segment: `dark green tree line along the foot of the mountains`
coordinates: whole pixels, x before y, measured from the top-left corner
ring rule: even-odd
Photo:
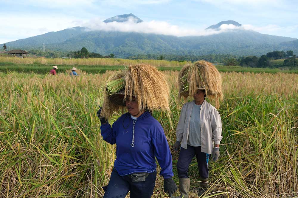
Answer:
[[[6,45],[3,45],[3,50],[7,49]],[[36,56],[45,56],[48,58],[58,58],[58,57],[72,57],[72,58],[115,58],[115,54],[110,53],[108,56],[103,56],[99,53],[89,52],[86,47],[82,47],[81,50],[71,51],[69,53],[60,52],[60,51],[46,51],[42,52],[40,50],[29,50],[30,54]],[[242,56],[237,57],[231,54],[208,54],[196,56],[192,55],[175,55],[175,54],[139,54],[135,56],[128,56],[127,59],[155,59],[155,60],[167,60],[167,61],[198,61],[205,60],[209,62],[217,62],[224,63],[224,65],[231,66],[245,66],[245,67],[258,67],[258,68],[273,68],[286,66],[292,67],[298,66],[298,61],[296,55],[292,50],[288,51],[272,51],[268,52],[266,55],[262,55],[261,57],[257,56]],[[283,64],[273,64],[271,60],[285,59]]]

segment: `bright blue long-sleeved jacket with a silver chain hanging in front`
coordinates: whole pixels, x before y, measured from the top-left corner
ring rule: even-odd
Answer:
[[[160,175],[165,179],[174,176],[172,155],[160,123],[145,111],[135,121],[134,147],[133,119],[130,113],[123,114],[111,127],[109,123],[100,126],[103,140],[116,143],[114,167],[119,175],[134,172],[153,172],[156,160],[161,167]]]

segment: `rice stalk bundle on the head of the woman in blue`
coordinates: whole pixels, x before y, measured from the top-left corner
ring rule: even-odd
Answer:
[[[113,112],[125,110],[126,99],[136,97],[139,110],[164,110],[170,113],[169,88],[164,75],[148,64],[130,65],[114,73],[105,86],[101,115],[111,118]]]

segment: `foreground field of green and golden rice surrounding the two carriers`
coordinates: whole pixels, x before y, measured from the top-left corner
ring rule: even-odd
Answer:
[[[103,196],[101,186],[108,183],[116,147],[100,136],[96,112],[112,73],[0,72],[0,197]],[[178,72],[164,74],[175,129],[186,101],[177,101]],[[298,75],[221,75],[221,156],[209,162],[210,188],[203,197],[298,197]],[[153,116],[172,148],[176,134],[167,115]],[[178,153],[172,155],[177,175]],[[189,173],[194,198],[199,182],[195,160]],[[158,176],[153,198],[166,197],[162,186]]]

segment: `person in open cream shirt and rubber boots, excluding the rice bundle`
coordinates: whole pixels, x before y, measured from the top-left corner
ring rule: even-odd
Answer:
[[[174,149],[178,151],[181,142],[177,171],[181,197],[184,195],[184,198],[188,197],[190,186],[188,167],[193,157],[197,158],[201,176],[199,195],[202,195],[208,186],[210,154],[212,153],[213,161],[217,161],[219,157],[219,145],[222,139],[221,116],[204,96],[205,90],[198,90],[193,96],[194,100],[183,105],[176,129]]]

